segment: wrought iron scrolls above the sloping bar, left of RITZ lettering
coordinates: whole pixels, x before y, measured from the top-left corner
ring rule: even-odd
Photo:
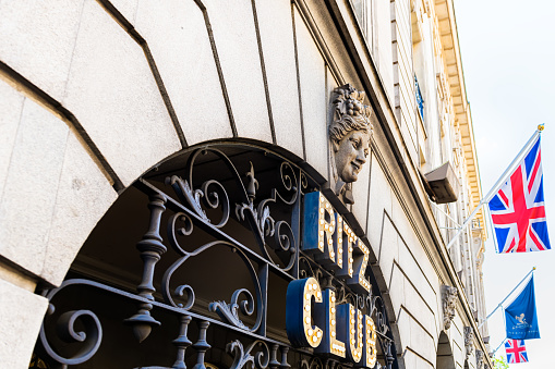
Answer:
[[[200,156],[215,155],[226,165],[232,176],[234,188],[232,193],[239,197],[236,204],[236,217],[239,221],[245,222],[253,231],[258,243],[261,255],[273,266],[282,271],[291,271],[294,265],[294,256],[298,250],[298,237],[287,220],[276,220],[272,216],[270,207],[274,204],[292,206],[300,199],[301,189],[307,188],[309,180],[306,175],[294,169],[287,161],[281,162],[279,167],[279,176],[281,187],[287,196],[283,196],[277,188],[270,189],[270,196],[262,199],[257,204],[255,199],[260,187],[258,180],[255,177],[254,165],[245,173],[245,180],[239,174],[232,161],[222,151],[216,148],[203,148],[191,153],[186,161],[185,172],[188,179],[178,175],[166,177],[166,184],[171,185],[179,202],[191,210],[201,221],[210,224],[216,229],[222,229],[228,224],[230,216],[230,198],[225,186],[216,181],[205,181],[201,188],[194,187],[194,168]],[[229,189],[231,190],[231,189]],[[210,219],[206,209],[221,209],[221,218]],[[192,230],[191,219],[186,214],[181,217],[188,226],[180,229],[181,235],[190,234]],[[176,222],[176,219],[172,220]],[[173,225],[171,225],[173,227]],[[176,237],[170,236],[170,243],[177,244]],[[274,260],[268,248],[276,251],[280,260]]]

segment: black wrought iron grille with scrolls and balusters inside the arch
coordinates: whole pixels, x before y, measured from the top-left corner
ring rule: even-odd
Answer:
[[[197,159],[204,155],[216,156],[218,163],[224,163],[227,168],[228,171],[225,174],[218,173],[218,180],[221,182],[216,179],[204,181],[205,179],[201,179],[201,175],[194,181],[193,174],[195,174],[195,165],[198,164]],[[208,162],[212,162],[212,159],[213,157],[208,157]],[[201,164],[206,162],[207,160],[204,160]],[[131,317],[125,315],[121,319],[125,324],[131,325],[140,342],[145,340],[155,327],[160,325],[160,321],[166,321],[168,316],[176,317],[179,323],[173,329],[179,332],[170,332],[172,335],[168,340],[177,352],[172,369],[186,368],[185,350],[188,350],[188,360],[193,360],[191,354],[196,354],[193,369],[205,369],[204,360],[206,357],[209,360],[212,354],[207,337],[213,336],[212,330],[215,329],[229,330],[241,337],[230,342],[226,347],[227,353],[233,358],[231,369],[245,367],[288,369],[290,367],[288,352],[293,348],[283,342],[273,341],[266,335],[268,318],[265,304],[268,304],[268,291],[272,291],[269,281],[275,275],[286,282],[299,276],[314,276],[323,288],[336,290],[338,304],[350,303],[373,317],[383,354],[379,359],[382,362],[385,360],[387,367],[391,368],[396,353],[382,298],[353,293],[343,280],[336,279],[333,271],[326,270],[310,255],[300,250],[302,195],[309,188],[312,190],[317,187],[317,184],[301,169],[287,161],[276,161],[273,172],[266,169],[261,171],[261,175],[255,172],[255,165],[251,163],[249,172],[240,175],[230,157],[216,148],[206,147],[189,155],[184,177],[174,175],[174,172],[170,175],[153,177],[154,181],[166,179],[165,184],[162,181],[155,183],[140,179],[135,187],[148,196],[149,222],[147,231],[136,244],[142,260],[142,274],[138,278],[136,293],[92,280],[75,279],[68,280],[60,287],[51,290],[46,297],[51,300],[60,291],[79,284],[126,298],[135,305],[136,312]],[[209,171],[204,170],[202,175],[207,173]],[[231,179],[228,174],[231,174]],[[274,181],[268,180],[270,177]],[[268,182],[272,186],[263,187]],[[168,188],[171,188],[174,194],[167,194]],[[232,218],[232,208],[236,209],[237,219]],[[254,237],[248,237],[241,234],[240,237],[244,237],[246,244],[238,241],[243,238],[232,237],[233,232],[239,233],[239,231],[233,229],[233,232],[229,232],[230,227],[226,227],[226,225],[236,226],[237,222],[242,224],[239,227],[240,232],[246,234],[244,232],[246,230],[254,235]],[[166,231],[166,234],[160,235],[160,230]],[[167,253],[167,246],[170,247],[169,253]],[[239,266],[243,272],[241,283],[243,279],[250,280],[249,288],[238,288],[233,285],[236,281],[232,281],[222,287],[224,297],[218,295],[205,298],[202,292],[196,291],[200,295],[195,293],[193,286],[197,288],[198,285],[195,284],[196,281],[191,280],[194,278],[194,268],[190,271],[186,267],[198,260],[196,257],[203,253],[209,253],[215,248],[231,250],[239,257],[241,260]],[[162,257],[171,259],[158,263]],[[137,259],[138,262],[141,261]],[[155,273],[155,269],[160,266],[167,269]],[[196,300],[198,304],[195,303]],[[215,313],[204,315],[206,312],[204,302],[208,304],[208,311]],[[88,309],[55,313],[52,304],[51,302],[45,321],[47,319],[57,319],[57,321],[53,324],[48,321],[48,324],[41,328],[39,335],[41,353],[50,361],[62,366],[89,360],[97,353],[102,341],[100,319]],[[160,321],[155,319],[157,315]],[[126,317],[129,318],[124,319]],[[77,321],[79,324],[76,324]],[[191,323],[193,323],[193,332],[198,332],[196,341],[188,337]],[[52,325],[56,327],[55,330],[51,330]],[[76,327],[82,327],[81,331]],[[110,327],[106,324],[106,330],[108,331]],[[209,329],[210,334],[208,334]],[[47,336],[51,339],[48,334],[52,334],[52,331],[57,337],[48,340]],[[167,329],[164,333],[167,333]],[[52,347],[60,340],[71,342],[81,348],[75,350],[76,354],[63,357],[60,352],[64,353],[64,350],[56,350]],[[243,346],[242,341],[250,344]],[[323,359],[314,356],[305,359],[307,355],[306,350],[295,352],[295,357],[303,357],[300,362],[303,369],[348,367],[331,358]]]

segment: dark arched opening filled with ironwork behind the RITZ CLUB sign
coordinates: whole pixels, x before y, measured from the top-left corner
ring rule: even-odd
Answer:
[[[372,317],[377,366],[397,368],[370,268],[372,287],[361,293],[301,245],[303,198],[315,190],[305,171],[252,145],[164,161],[120,195],[62,285],[44,292],[39,356],[77,368],[343,366],[288,340],[288,285],[314,278],[338,305]]]

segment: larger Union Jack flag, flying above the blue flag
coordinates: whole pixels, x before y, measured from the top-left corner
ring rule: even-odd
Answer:
[[[551,249],[543,201],[540,136],[490,200],[497,253]]]

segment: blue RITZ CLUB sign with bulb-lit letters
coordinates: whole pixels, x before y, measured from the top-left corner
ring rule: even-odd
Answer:
[[[305,195],[302,249],[357,293],[370,293],[364,278],[367,247],[354,235],[319,192]],[[314,278],[293,281],[287,288],[286,329],[295,347],[374,368],[376,327],[351,304],[336,305],[335,291],[322,291]]]

